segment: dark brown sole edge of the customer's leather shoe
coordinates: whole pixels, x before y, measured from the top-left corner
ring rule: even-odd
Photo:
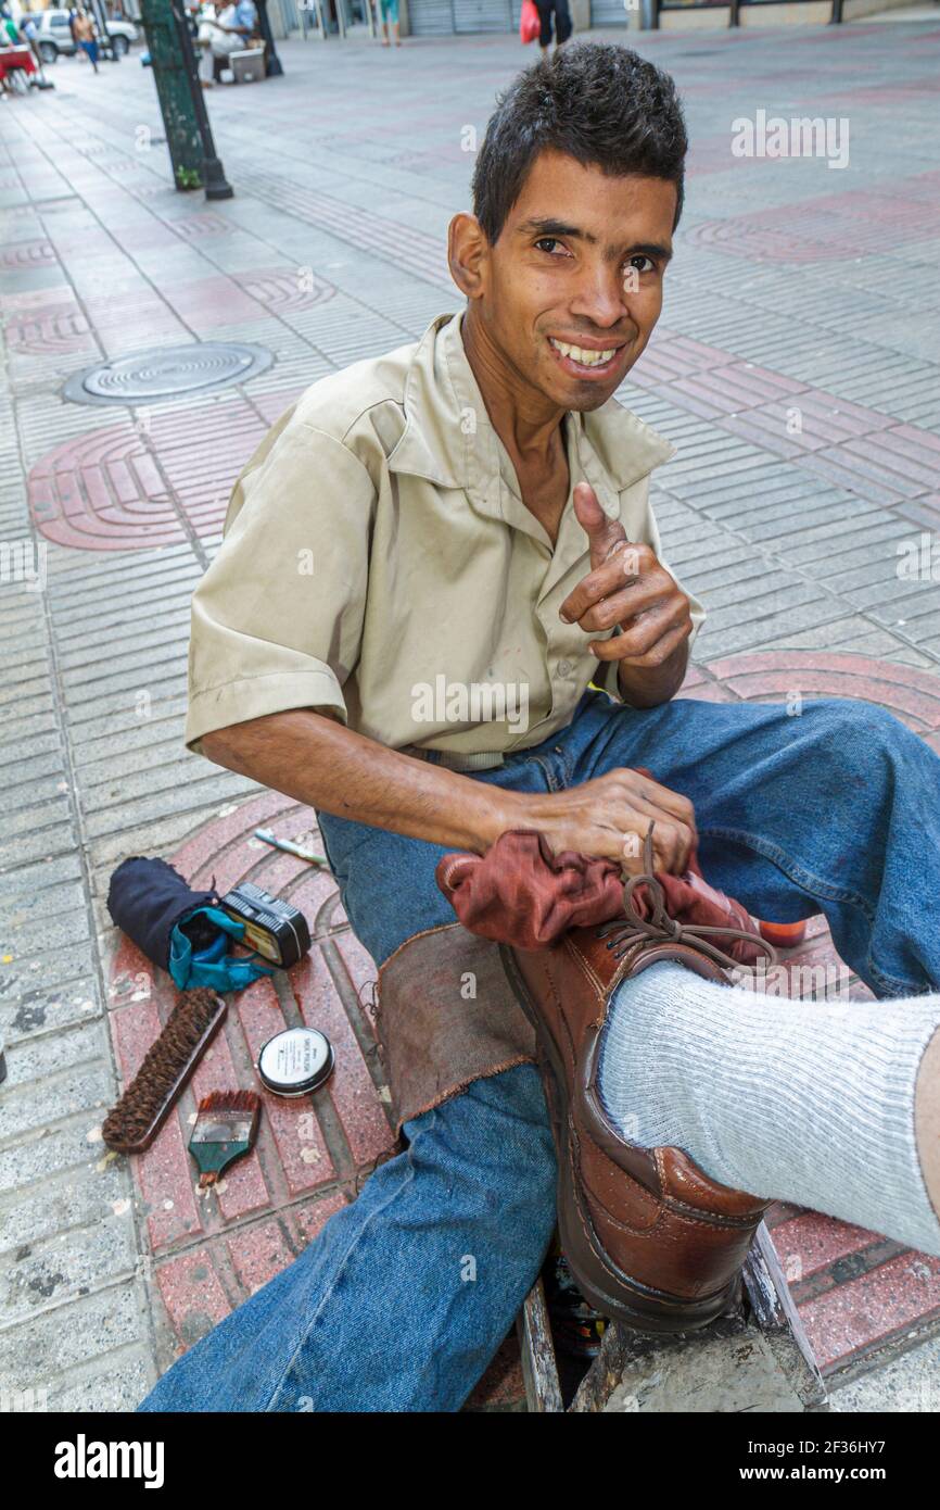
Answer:
[[[561,1057],[552,1034],[540,1021],[511,948],[501,944],[499,954],[513,995],[536,1031],[539,1062],[548,1081],[546,1101],[558,1151],[558,1237],[579,1290],[602,1315],[640,1332],[696,1332],[709,1326],[735,1300],[739,1274],[715,1294],[685,1300],[631,1279],[604,1252],[575,1188],[569,1096]],[[611,1279],[622,1294],[610,1293],[607,1285]]]

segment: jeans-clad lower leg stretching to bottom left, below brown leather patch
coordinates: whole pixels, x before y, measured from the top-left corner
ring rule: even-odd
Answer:
[[[555,1222],[539,1075],[475,1081],[404,1128],[288,1268],[163,1376],[142,1410],[457,1410]]]

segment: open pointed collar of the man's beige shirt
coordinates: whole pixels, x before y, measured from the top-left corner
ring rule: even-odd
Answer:
[[[463,349],[459,314],[439,314],[418,341],[404,415],[389,468],[463,488],[477,509],[502,518],[498,436]],[[620,492],[676,455],[671,441],[616,399],[570,412],[569,426],[584,476],[610,518],[619,516]]]

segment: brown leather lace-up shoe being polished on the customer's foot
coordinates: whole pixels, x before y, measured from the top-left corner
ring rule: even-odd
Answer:
[[[652,870],[649,844],[647,856]],[[637,885],[650,888],[649,921],[631,904]],[[601,1033],[614,989],[659,960],[730,988],[735,960],[717,945],[751,935],[721,935],[674,923],[658,882],[646,874],[626,883],[623,920],[570,929],[548,948],[501,945],[539,1040],[558,1154],[561,1247],[591,1305],[643,1332],[694,1330],[721,1315],[771,1205],[715,1184],[680,1148],[629,1143],[597,1092]],[[776,959],[770,944],[760,947]]]

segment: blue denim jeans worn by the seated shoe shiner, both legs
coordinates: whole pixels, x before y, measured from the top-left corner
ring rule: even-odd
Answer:
[[[940,760],[865,702],[674,701],[587,692],[572,723],[474,779],[558,791],[646,766],[696,808],[702,868],[756,917],[824,912],[880,997],[940,989]],[[444,849],[321,815],[350,923],[382,963],[453,921]],[[457,1410],[508,1332],[554,1226],[555,1166],[531,1065],[404,1126],[288,1268],[163,1376],[142,1410]]]

